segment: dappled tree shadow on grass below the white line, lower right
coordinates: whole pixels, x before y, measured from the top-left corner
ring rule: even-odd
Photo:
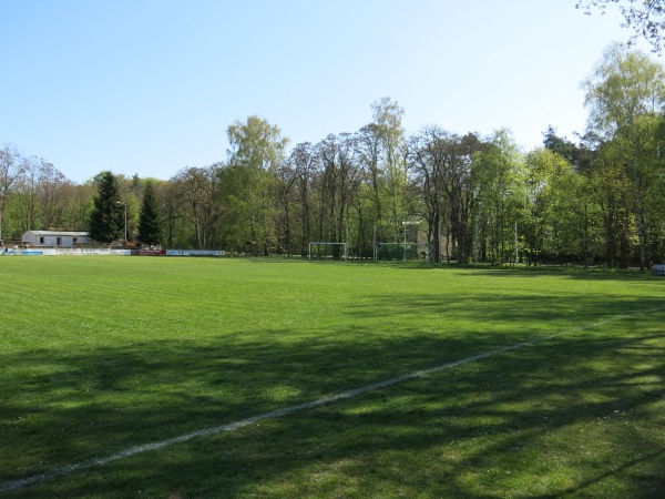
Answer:
[[[663,332],[551,340],[21,496],[658,497],[664,350]]]

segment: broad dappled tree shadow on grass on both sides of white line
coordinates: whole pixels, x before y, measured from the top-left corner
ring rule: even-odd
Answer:
[[[428,299],[403,298],[383,313],[413,305],[438,313]],[[546,308],[559,317],[593,305],[580,299],[559,298]],[[636,306],[626,301],[615,312]],[[480,312],[488,320],[523,319],[514,309]],[[610,332],[564,335],[7,496],[659,497],[662,319],[617,320]],[[0,355],[8,375],[31,373],[12,376],[0,398],[0,481],[440,366],[508,339],[358,327],[285,342],[291,333],[137,342],[58,357],[38,348]]]

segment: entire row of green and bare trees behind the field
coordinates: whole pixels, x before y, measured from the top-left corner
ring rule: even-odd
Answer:
[[[289,256],[345,242],[371,258],[377,242],[405,242],[408,227],[413,241],[416,225],[436,262],[646,268],[665,255],[665,73],[614,44],[582,89],[589,122],[577,143],[550,126],[529,152],[508,130],[408,135],[389,98],[359,131],[290,150],[266,120],[236,121],[226,161],[167,181],[101,172],[76,185],[6,145],[0,237],[59,227],[101,242]]]

